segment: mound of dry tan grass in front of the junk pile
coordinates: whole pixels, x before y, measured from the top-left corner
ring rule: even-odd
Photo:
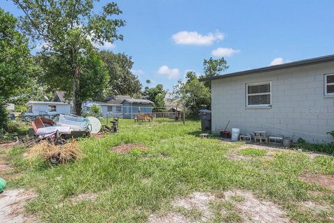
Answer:
[[[77,145],[77,141],[72,141],[63,146],[49,144],[42,141],[29,150],[29,157],[42,157],[53,163],[66,163],[77,160],[82,156],[81,149]]]

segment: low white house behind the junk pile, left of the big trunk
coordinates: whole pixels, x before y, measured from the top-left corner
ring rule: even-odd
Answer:
[[[65,102],[27,102],[28,111],[24,116],[39,116],[39,115],[55,115],[55,114],[70,114],[71,105]]]

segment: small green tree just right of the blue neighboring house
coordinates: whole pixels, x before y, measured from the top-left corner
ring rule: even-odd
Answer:
[[[153,112],[165,112],[165,97],[167,91],[164,90],[164,86],[162,84],[157,84],[155,87],[145,87],[145,91],[143,95],[146,99],[154,102],[153,104]]]

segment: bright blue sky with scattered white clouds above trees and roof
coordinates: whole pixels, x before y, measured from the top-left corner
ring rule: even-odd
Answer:
[[[334,54],[331,0],[116,2],[127,21],[124,40],[103,48],[132,56],[144,86],[150,79],[173,90],[186,70],[201,74],[210,56],[224,56],[234,72]],[[20,14],[10,1],[0,7]]]

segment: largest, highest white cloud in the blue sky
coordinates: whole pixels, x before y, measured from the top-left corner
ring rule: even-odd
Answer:
[[[214,41],[223,40],[224,34],[216,31],[216,33],[207,33],[202,35],[196,31],[180,31],[172,36],[176,44],[184,45],[211,45]]]

